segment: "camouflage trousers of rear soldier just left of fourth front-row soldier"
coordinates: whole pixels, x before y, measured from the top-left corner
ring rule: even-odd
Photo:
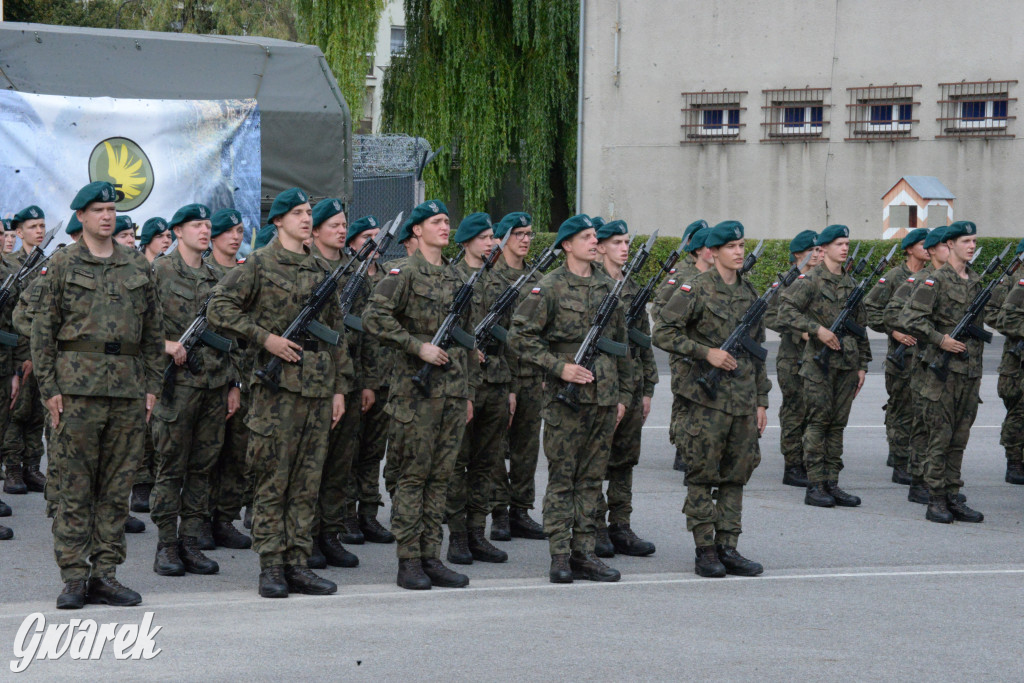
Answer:
[[[512,425],[506,432],[505,458],[495,465],[495,493],[492,509],[532,510],[537,500],[537,460],[541,454],[541,407],[544,376],[520,377],[516,381],[516,407]]]

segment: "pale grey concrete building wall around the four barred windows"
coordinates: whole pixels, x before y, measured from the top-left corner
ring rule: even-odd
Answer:
[[[879,238],[882,196],[903,175],[933,175],[956,196],[954,218],[1024,232],[1022,86],[1009,90],[1016,137],[936,138],[939,83],[1017,79],[1022,25],[1019,0],[587,0],[581,208],[662,234],[732,218],[753,237],[840,222]],[[844,141],[847,88],[872,84],[922,86],[919,139]],[[761,142],[762,91],[804,87],[830,88],[828,141]],[[700,90],[746,91],[744,142],[680,143],[681,93]]]

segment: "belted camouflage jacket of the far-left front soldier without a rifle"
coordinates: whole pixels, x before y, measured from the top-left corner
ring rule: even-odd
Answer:
[[[32,289],[32,360],[43,400],[57,394],[142,398],[159,394],[164,323],[156,279],[138,252],[114,244],[97,258],[85,240],[54,254]],[[61,349],[62,342],[120,344],[120,353]],[[134,347],[135,352],[129,351]],[[112,346],[112,348],[114,348]]]

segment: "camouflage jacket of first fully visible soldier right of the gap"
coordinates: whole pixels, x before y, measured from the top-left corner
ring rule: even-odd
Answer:
[[[824,348],[824,344],[818,341],[818,327],[828,329],[831,326],[855,287],[850,275],[834,274],[824,263],[819,263],[779,294],[778,325],[790,330],[791,334],[806,332],[810,338],[804,344],[801,377],[816,382],[825,381],[824,373],[813,360],[814,355]],[[867,325],[863,302],[857,306],[854,317],[861,327]],[[842,352],[831,354],[828,367],[830,370],[866,371],[870,360],[871,347],[867,340],[847,334]]]

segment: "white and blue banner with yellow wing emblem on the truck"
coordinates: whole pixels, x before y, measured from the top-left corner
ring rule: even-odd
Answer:
[[[114,99],[0,90],[0,216],[35,204],[47,226],[71,217],[93,180],[114,183],[138,225],[185,204],[237,209],[243,250],[259,229],[255,99]],[[67,240],[62,240],[67,241]],[[244,255],[244,254],[243,254]]]

